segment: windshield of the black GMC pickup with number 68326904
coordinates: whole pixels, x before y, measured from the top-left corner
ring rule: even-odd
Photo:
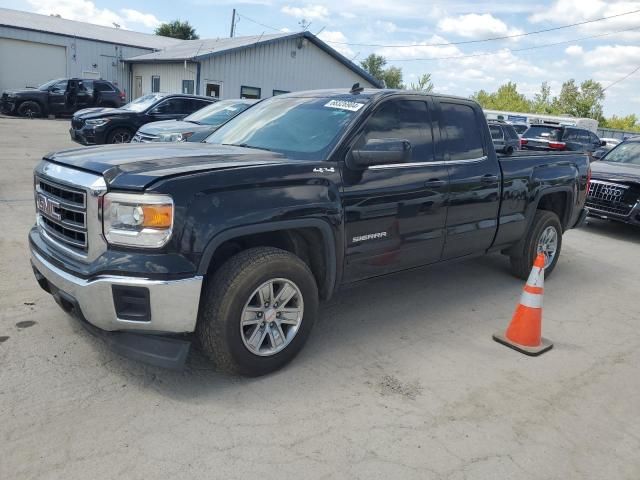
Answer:
[[[323,160],[366,101],[352,96],[272,97],[230,120],[206,141]]]

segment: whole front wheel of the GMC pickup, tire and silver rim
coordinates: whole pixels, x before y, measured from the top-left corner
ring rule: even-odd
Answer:
[[[264,375],[296,356],[317,309],[315,278],[300,258],[277,248],[251,248],[205,282],[196,333],[218,369]]]

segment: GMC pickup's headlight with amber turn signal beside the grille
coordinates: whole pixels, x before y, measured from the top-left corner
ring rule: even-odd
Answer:
[[[114,245],[160,248],[173,231],[173,199],[168,195],[107,193],[103,230]]]

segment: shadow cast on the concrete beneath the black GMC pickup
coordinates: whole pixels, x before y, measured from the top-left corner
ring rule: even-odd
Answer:
[[[549,284],[569,282],[582,274],[582,288],[589,291],[588,284],[597,283],[597,275],[584,275],[585,266],[578,263],[562,262]],[[523,286],[509,274],[508,264],[506,257],[491,255],[347,288],[323,304],[314,331],[298,357],[266,377],[221,374],[197,348],[192,349],[186,368],[173,372],[130,361],[99,347],[104,361],[101,368],[130,385],[186,402],[212,399],[248,386],[261,388],[268,395],[272,390],[262,388],[266,383],[291,388],[297,382],[308,383],[310,376],[318,374],[357,376],[367,363],[393,355],[403,345],[421,342],[428,353],[442,340],[446,343],[454,337],[477,336],[478,329],[490,339],[496,328],[507,325]],[[592,261],[590,268],[597,272],[600,262]]]

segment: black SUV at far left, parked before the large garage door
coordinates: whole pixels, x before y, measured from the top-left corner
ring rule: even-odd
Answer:
[[[3,92],[0,110],[21,117],[70,115],[87,107],[120,107],[124,99],[124,92],[106,80],[58,78],[38,88]]]

